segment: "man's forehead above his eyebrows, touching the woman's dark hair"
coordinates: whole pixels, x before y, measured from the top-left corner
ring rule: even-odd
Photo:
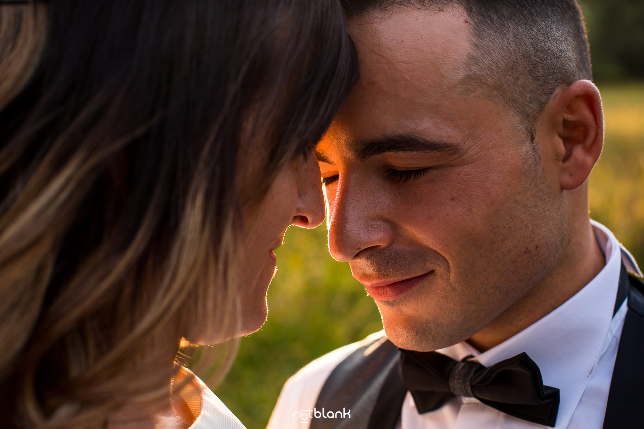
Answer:
[[[420,135],[458,141],[471,117],[457,86],[471,50],[460,10],[403,7],[349,22],[361,77],[328,134],[350,143],[379,136]]]

